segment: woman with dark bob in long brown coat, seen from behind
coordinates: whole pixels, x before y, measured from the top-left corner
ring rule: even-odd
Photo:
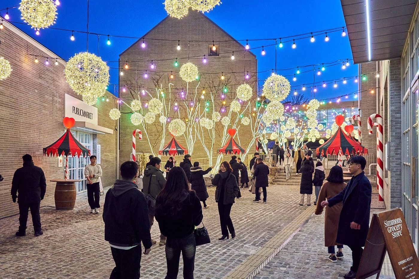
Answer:
[[[346,183],[343,182],[343,170],[340,166],[332,167],[326,180],[327,182],[323,184],[318,195],[316,215],[320,215],[323,212],[323,207],[321,206],[323,200],[331,199],[346,187]],[[341,210],[342,202],[333,207],[326,207],[324,216],[324,246],[328,247],[328,253],[330,253],[329,260],[332,262],[336,262],[336,258],[342,259],[344,257],[342,253],[343,245],[336,243]],[[336,254],[335,245],[338,246],[338,253]]]

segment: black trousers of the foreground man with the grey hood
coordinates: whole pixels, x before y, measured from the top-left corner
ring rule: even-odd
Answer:
[[[141,245],[128,250],[111,247],[115,267],[110,279],[138,279],[140,278]]]

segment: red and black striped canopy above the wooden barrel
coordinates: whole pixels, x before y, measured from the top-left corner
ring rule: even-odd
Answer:
[[[56,142],[44,148],[44,156],[90,156],[89,149],[85,148],[78,140],[75,139],[70,129],[61,136]]]

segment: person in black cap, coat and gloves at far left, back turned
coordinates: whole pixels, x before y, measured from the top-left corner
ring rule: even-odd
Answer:
[[[19,204],[19,230],[16,232],[16,236],[26,235],[29,208],[34,225],[34,235],[38,236],[43,234],[39,205],[41,200],[44,200],[47,182],[45,181],[44,171],[39,166],[34,165],[31,155],[25,154],[22,159],[23,167],[15,171],[10,191],[13,202],[16,202],[16,198],[18,198]],[[17,193],[19,196],[16,195]]]

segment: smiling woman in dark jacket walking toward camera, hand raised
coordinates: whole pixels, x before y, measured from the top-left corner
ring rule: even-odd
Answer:
[[[231,238],[235,238],[235,231],[233,222],[230,218],[231,207],[233,206],[234,199],[238,195],[238,184],[234,174],[232,173],[228,161],[221,163],[220,171],[215,174],[211,180],[211,184],[217,186],[215,189],[215,201],[218,203],[218,214],[220,215],[221,238],[228,239],[228,231],[231,233]]]

